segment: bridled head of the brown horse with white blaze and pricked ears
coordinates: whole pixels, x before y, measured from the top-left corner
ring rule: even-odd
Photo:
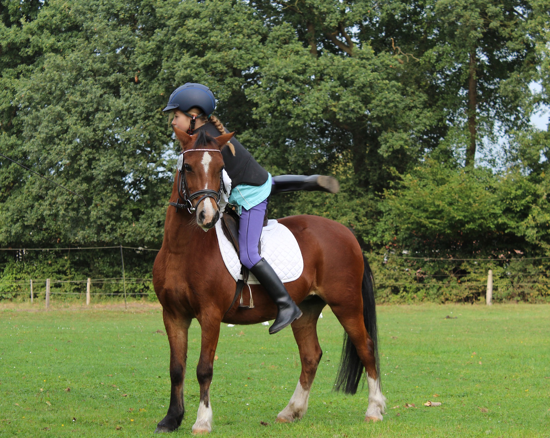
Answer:
[[[178,192],[190,212],[195,211],[197,224],[203,229],[212,228],[219,219],[223,157],[221,150],[234,132],[211,137],[204,131],[194,136],[174,127],[182,145],[178,161]]]

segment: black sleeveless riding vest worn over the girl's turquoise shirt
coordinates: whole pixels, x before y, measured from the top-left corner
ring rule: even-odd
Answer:
[[[219,137],[222,134],[210,122],[205,123],[197,131],[205,131],[212,137]],[[227,131],[226,129],[226,132]],[[252,154],[239,143],[235,137],[230,140],[235,147],[235,155],[231,153],[228,147],[222,149],[223,162],[226,165],[226,172],[231,179],[231,186],[236,187],[239,184],[250,184],[251,186],[261,186],[267,181],[267,170],[258,164]]]

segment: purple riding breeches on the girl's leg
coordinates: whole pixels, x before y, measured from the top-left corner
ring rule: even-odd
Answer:
[[[239,259],[247,268],[261,260],[258,253],[258,242],[262,234],[263,217],[266,214],[267,199],[257,206],[241,210],[239,219]]]

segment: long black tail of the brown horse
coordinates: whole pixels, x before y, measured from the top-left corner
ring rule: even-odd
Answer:
[[[374,344],[373,354],[376,360],[376,372],[380,378],[380,359],[378,357],[378,334],[376,327],[376,302],[375,288],[372,279],[372,271],[368,266],[367,259],[363,256],[365,270],[363,272],[363,282],[361,284],[361,295],[363,298],[363,321],[368,335],[371,337]],[[342,345],[342,358],[340,360],[340,369],[336,377],[335,391],[343,390],[346,394],[355,394],[361,374],[363,372],[363,364],[355,345],[349,339],[348,333],[344,332],[344,344]]]

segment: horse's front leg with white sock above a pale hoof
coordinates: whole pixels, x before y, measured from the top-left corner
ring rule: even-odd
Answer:
[[[219,338],[218,320],[202,320],[201,323],[201,355],[197,365],[197,380],[200,386],[200,402],[197,420],[193,425],[194,434],[212,431],[212,405],[210,404],[210,383],[214,370],[214,356]]]

